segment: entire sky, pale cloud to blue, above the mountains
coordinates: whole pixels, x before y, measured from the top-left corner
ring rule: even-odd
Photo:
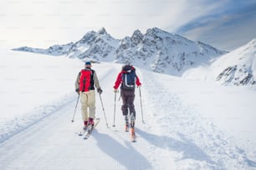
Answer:
[[[105,27],[113,37],[161,28],[233,50],[256,37],[255,0],[2,0],[1,47],[49,47]]]

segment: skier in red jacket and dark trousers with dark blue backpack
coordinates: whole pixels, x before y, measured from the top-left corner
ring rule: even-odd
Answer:
[[[121,84],[121,86],[120,86]],[[121,107],[122,113],[125,117],[125,131],[128,132],[129,129],[129,118],[128,118],[128,108],[130,111],[131,120],[131,133],[135,135],[134,126],[136,120],[136,110],[134,107],[135,99],[135,88],[141,87],[140,78],[136,75],[136,68],[131,65],[125,65],[122,67],[121,72],[119,72],[114,86],[114,92],[117,92],[120,86],[120,96],[122,97],[123,105]]]

